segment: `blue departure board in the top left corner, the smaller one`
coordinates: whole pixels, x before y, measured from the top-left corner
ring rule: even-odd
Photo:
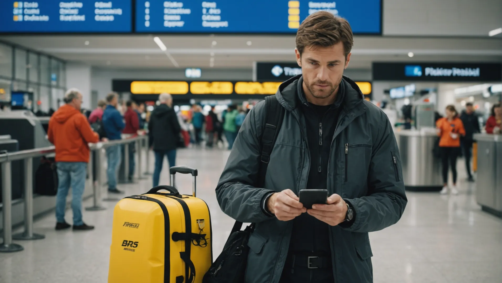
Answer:
[[[0,1],[0,33],[130,33],[132,0]]]

